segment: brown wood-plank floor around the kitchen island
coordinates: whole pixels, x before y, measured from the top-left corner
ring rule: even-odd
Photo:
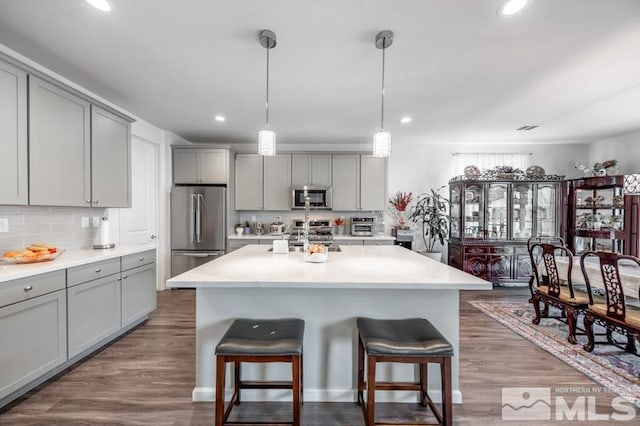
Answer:
[[[464,404],[454,405],[456,425],[519,424],[501,421],[503,387],[599,388],[467,303],[479,298],[514,297],[527,298],[528,290],[461,293],[460,387]],[[0,425],[213,424],[213,403],[191,402],[194,311],[194,291],[158,293],[158,309],[145,324],[0,409]],[[579,389],[563,393],[571,403],[579,395]],[[611,413],[613,397],[598,395],[596,412]],[[398,414],[411,418],[418,412],[413,404],[380,404],[379,411],[380,416],[395,420]],[[265,420],[289,413],[289,404],[244,403],[232,416]],[[310,426],[363,425],[360,408],[351,403],[305,403],[302,420]]]

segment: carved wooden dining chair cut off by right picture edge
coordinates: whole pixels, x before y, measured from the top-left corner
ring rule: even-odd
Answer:
[[[596,257],[599,261],[599,271],[604,284],[605,300],[594,300],[591,291],[591,281],[594,278],[585,267],[585,260]],[[633,256],[609,252],[585,252],[580,257],[580,268],[584,275],[589,296],[589,306],[584,315],[584,328],[589,341],[583,346],[587,352],[593,351],[595,344],[612,344],[627,352],[637,355],[635,340],[640,340],[640,308],[629,306],[625,300],[624,287],[620,278],[620,262],[631,263],[640,267],[640,259]],[[640,300],[640,289],[636,295]],[[607,329],[607,341],[596,342],[593,333],[593,324],[601,325]],[[626,346],[618,344],[612,339],[611,332],[616,331],[627,336]]]

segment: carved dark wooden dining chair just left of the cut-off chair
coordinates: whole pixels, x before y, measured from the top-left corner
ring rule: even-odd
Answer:
[[[537,250],[539,250],[540,263],[544,267],[545,273],[541,274],[539,265],[536,265],[534,273],[535,281],[538,285],[531,298],[531,303],[536,312],[533,323],[540,324],[541,318],[558,319],[569,327],[567,341],[571,344],[576,344],[577,318],[587,308],[589,299],[586,296],[577,295],[573,289],[571,282],[573,255],[567,247],[555,244],[535,243],[531,246],[531,251],[532,253],[537,253]],[[566,277],[560,277],[556,264],[556,255],[567,257]],[[545,309],[546,312],[541,311],[541,302],[545,303],[545,307],[553,306],[560,309],[560,315],[551,316],[547,309]]]

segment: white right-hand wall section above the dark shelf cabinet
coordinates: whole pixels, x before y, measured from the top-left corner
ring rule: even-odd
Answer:
[[[620,174],[640,173],[640,130],[592,143],[585,165],[612,159],[618,160]]]

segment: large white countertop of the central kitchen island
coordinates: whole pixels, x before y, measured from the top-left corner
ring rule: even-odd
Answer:
[[[491,290],[490,282],[400,246],[341,246],[325,263],[247,245],[167,281],[167,287]]]

